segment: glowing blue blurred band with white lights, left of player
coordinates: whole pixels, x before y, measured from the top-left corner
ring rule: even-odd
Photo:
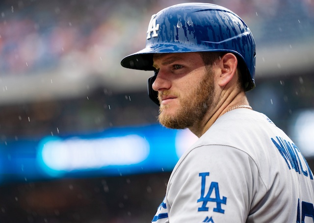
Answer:
[[[0,148],[0,182],[171,171],[197,137],[159,124],[48,136]]]

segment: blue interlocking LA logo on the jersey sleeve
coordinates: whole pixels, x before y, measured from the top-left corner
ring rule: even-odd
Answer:
[[[211,182],[209,186],[209,191],[205,196],[205,185],[206,185],[206,176],[209,176],[209,172],[207,173],[199,173],[199,176],[202,177],[201,181],[201,197],[197,200],[197,202],[203,202],[202,206],[198,208],[198,211],[208,211],[209,208],[207,207],[208,202],[215,202],[216,207],[213,208],[214,212],[219,212],[224,214],[225,210],[221,208],[221,204],[226,204],[227,198],[222,197],[220,198],[219,194],[219,186],[217,182]],[[214,197],[210,197],[211,194],[214,192]]]

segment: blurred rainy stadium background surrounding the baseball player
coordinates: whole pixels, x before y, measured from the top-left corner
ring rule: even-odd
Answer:
[[[157,124],[150,72],[120,66],[186,0],[1,0],[0,222],[146,223],[195,141]],[[252,107],[314,169],[314,0],[211,0],[257,43]]]

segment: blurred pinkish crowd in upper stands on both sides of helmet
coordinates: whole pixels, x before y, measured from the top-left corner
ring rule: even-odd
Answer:
[[[1,1],[0,76],[45,74],[69,61],[87,67],[90,73],[115,71],[123,56],[145,45],[150,16],[179,2],[187,1]],[[314,32],[311,0],[209,2],[240,15],[258,43],[291,41],[295,35]],[[134,38],[137,41],[131,41]]]

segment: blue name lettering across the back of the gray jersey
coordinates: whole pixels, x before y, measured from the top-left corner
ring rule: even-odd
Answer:
[[[295,172],[299,174],[301,174],[302,172],[303,175],[310,176],[310,178],[313,180],[313,174],[309,167],[309,164],[304,158],[304,156],[301,154],[299,148],[297,148],[297,146],[295,146],[292,142],[289,142],[281,137],[276,136],[276,139],[277,141],[271,138],[271,141],[274,143],[282,157],[285,159],[289,170],[291,170],[292,168],[295,170]],[[300,157],[307,166],[307,170],[304,170]]]

